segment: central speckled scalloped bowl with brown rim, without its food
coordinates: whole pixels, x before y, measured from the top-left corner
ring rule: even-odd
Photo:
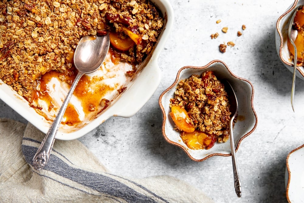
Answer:
[[[233,87],[238,101],[238,119],[233,128],[233,138],[236,150],[240,142],[250,135],[257,126],[257,115],[253,108],[254,89],[247,80],[234,75],[228,66],[222,61],[215,60],[202,67],[185,66],[181,68],[174,83],[166,89],[159,97],[159,105],[163,114],[162,133],[165,140],[173,145],[183,149],[187,155],[194,161],[203,161],[211,156],[231,156],[230,141],[225,143],[215,143],[211,149],[190,149],[182,141],[180,133],[174,130],[174,122],[169,113],[171,109],[170,98],[173,98],[174,91],[180,80],[189,78],[192,74],[201,75],[202,72],[213,71],[217,79],[226,79]]]

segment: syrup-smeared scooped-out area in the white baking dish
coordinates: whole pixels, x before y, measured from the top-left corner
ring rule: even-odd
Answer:
[[[96,72],[84,75],[78,82],[64,114],[62,130],[81,128],[114,102],[131,79],[126,75],[128,71],[132,71],[132,65],[113,63],[109,52]],[[33,107],[48,122],[54,120],[76,74],[71,70],[68,74],[51,71],[41,77],[34,93]]]

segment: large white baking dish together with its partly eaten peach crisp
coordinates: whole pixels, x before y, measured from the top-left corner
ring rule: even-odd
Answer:
[[[79,138],[111,116],[131,117],[161,81],[157,59],[173,24],[167,0],[3,0],[0,99],[44,133],[77,69],[81,37],[109,33],[101,67],[79,81],[56,138]]]

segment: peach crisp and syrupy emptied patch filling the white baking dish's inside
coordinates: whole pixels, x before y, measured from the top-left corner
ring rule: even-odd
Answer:
[[[103,65],[81,78],[64,116],[66,125],[89,122],[141,71],[163,26],[149,0],[2,0],[0,80],[52,120],[77,75],[79,40],[109,33]]]

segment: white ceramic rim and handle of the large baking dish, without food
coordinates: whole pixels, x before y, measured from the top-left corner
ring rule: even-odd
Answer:
[[[142,71],[136,75],[135,79],[127,83],[126,91],[119,95],[106,110],[89,118],[89,121],[80,127],[75,126],[69,131],[66,131],[63,127],[59,128],[56,139],[72,140],[79,138],[112,116],[131,117],[153,95],[161,82],[161,70],[157,60],[172,29],[173,9],[168,0],[151,0],[151,2],[161,10],[165,24],[152,54],[141,65]],[[0,80],[0,99],[40,131],[47,133],[51,121],[47,121],[45,117],[38,114],[22,96],[2,80]]]

